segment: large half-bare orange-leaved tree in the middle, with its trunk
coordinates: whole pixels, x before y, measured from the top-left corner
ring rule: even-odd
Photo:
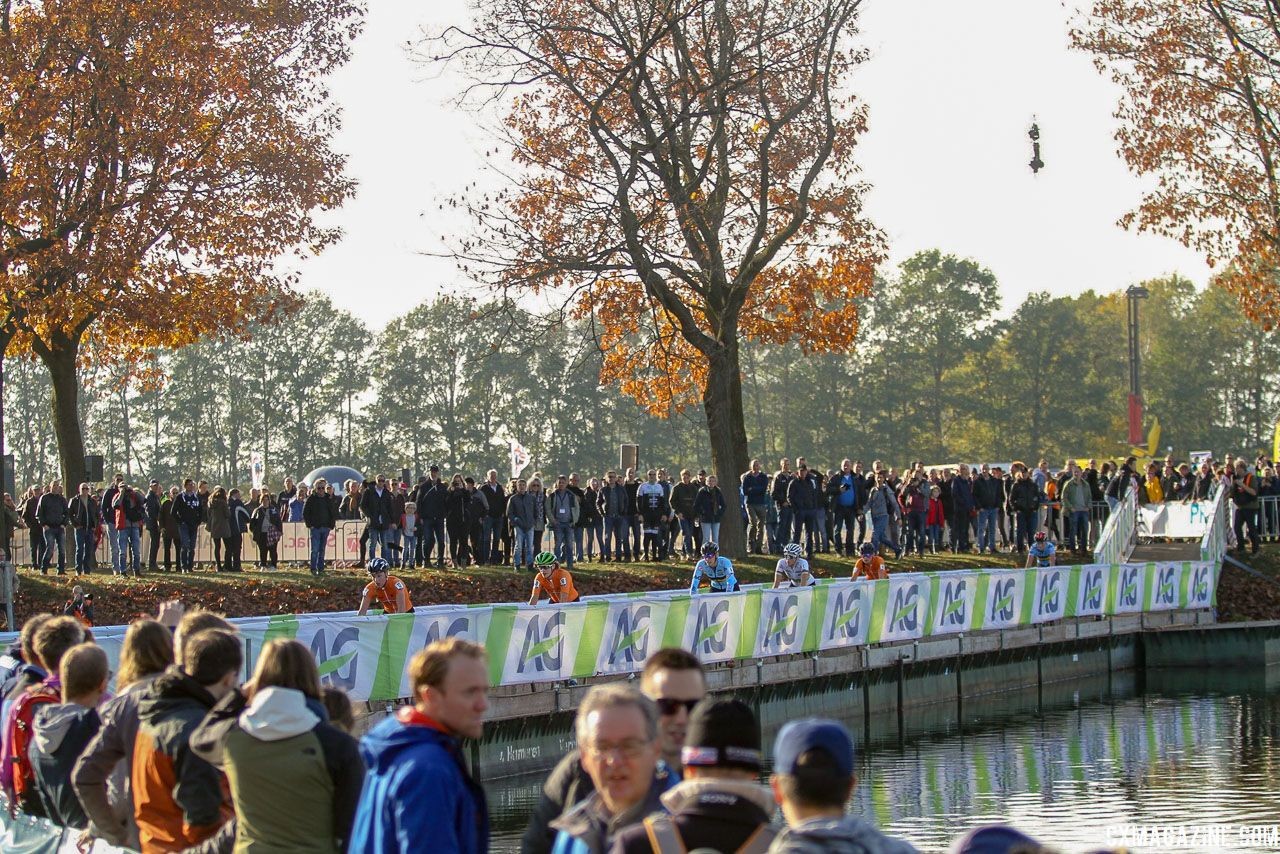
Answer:
[[[728,483],[748,463],[742,338],[850,348],[884,254],[852,157],[860,5],[476,0],[474,31],[424,45],[507,108],[515,168],[465,200],[463,269],[564,296],[602,379],[649,411],[700,401]],[[723,539],[742,551],[736,512]]]

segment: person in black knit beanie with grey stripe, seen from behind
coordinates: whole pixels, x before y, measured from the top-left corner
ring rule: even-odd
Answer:
[[[751,707],[705,699],[689,717],[681,752],[684,778],[662,795],[671,814],[655,813],[613,840],[611,854],[764,851],[776,832],[769,790],[760,777],[760,727]]]

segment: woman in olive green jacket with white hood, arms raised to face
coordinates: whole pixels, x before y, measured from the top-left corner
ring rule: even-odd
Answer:
[[[329,723],[303,644],[262,647],[244,693],[223,698],[191,745],[227,773],[237,851],[346,850],[365,764],[356,740]]]

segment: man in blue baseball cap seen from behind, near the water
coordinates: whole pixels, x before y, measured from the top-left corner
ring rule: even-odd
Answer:
[[[915,849],[881,834],[845,804],[858,785],[854,739],[837,721],[791,721],[773,745],[773,798],[782,805],[787,830],[771,854],[911,854]]]

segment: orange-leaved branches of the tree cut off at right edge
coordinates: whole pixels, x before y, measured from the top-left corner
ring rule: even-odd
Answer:
[[[1280,323],[1280,0],[1096,0],[1071,36],[1123,87],[1120,154],[1156,179],[1121,224],[1203,252]]]

